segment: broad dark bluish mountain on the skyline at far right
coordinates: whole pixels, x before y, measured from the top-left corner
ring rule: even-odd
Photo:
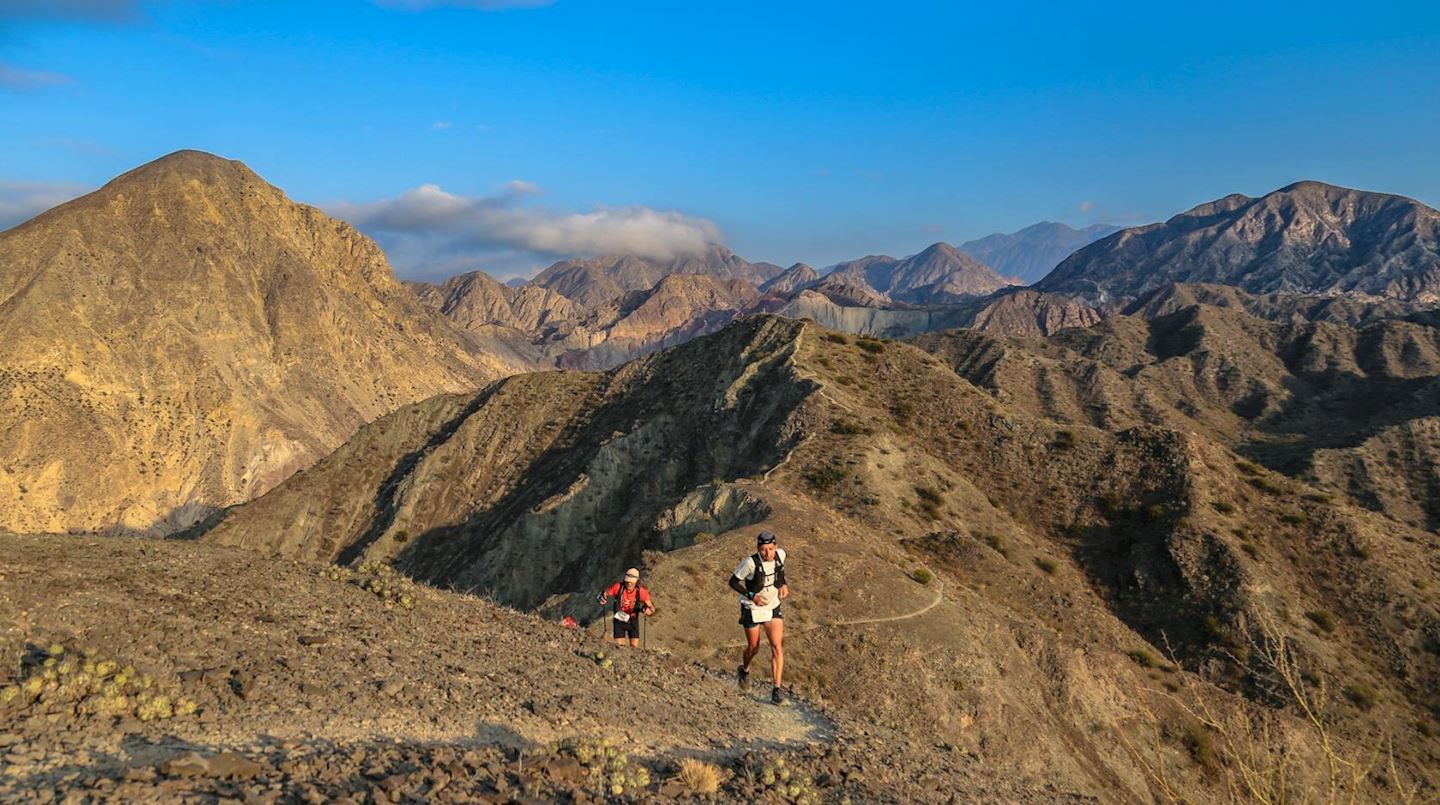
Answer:
[[[1171,282],[1440,302],[1440,212],[1403,196],[1300,181],[1112,235],[1037,288],[1115,302]]]

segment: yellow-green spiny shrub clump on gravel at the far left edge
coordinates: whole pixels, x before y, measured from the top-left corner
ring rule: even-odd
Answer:
[[[17,683],[0,688],[0,706],[62,709],[78,717],[134,717],[157,721],[193,716],[196,703],[130,664],[94,649],[59,644],[32,648],[20,658]]]

